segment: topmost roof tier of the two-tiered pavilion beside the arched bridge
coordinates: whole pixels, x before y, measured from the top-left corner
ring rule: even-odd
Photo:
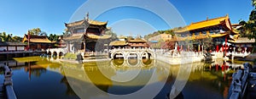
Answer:
[[[82,20],[79,20],[79,21],[75,21],[73,23],[65,24],[65,25],[68,26],[68,27],[75,26],[75,25],[82,25],[85,21],[86,21],[85,19],[82,19]],[[107,25],[108,24],[108,22],[101,22],[101,21],[91,20],[91,19],[88,20],[88,23],[90,25]]]

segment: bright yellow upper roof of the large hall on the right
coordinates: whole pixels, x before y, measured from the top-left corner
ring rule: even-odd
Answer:
[[[216,19],[207,19],[207,20],[203,20],[200,22],[196,22],[196,23],[191,23],[190,25],[187,25],[185,27],[183,27],[180,30],[177,30],[177,32],[184,32],[184,31],[189,31],[189,30],[197,30],[197,29],[201,29],[201,28],[205,28],[205,27],[209,27],[209,26],[213,26],[213,25],[220,25],[220,24],[228,24],[227,27],[231,28],[230,25],[230,20],[229,20],[229,16],[226,15],[224,17],[219,17]],[[230,29],[231,30],[231,29]]]

